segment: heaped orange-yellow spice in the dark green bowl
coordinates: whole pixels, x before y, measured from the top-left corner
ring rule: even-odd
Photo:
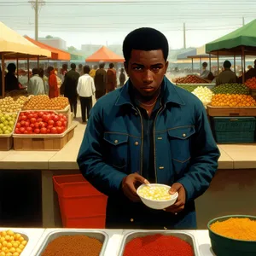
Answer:
[[[243,241],[256,241],[256,220],[229,218],[210,224],[210,229],[220,236]]]

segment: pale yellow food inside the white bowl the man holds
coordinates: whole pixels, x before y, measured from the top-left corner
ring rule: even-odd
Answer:
[[[143,186],[142,189],[139,189],[138,193],[146,199],[160,201],[172,199],[169,190],[170,188],[167,186],[147,185]]]

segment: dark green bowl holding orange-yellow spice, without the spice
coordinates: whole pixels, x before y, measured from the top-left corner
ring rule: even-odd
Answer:
[[[215,222],[222,222],[229,218],[249,218],[256,221],[255,216],[248,215],[228,215],[212,219],[207,227],[212,244],[212,251],[218,256],[255,256],[256,241],[237,240],[230,237],[221,236],[211,230],[211,225]]]

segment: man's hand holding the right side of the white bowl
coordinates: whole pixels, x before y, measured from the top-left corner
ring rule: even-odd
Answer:
[[[164,211],[172,213],[183,211],[186,202],[186,191],[181,183],[172,184],[172,188],[170,189],[169,193],[173,195],[176,192],[178,193],[176,203],[171,207],[166,208]]]

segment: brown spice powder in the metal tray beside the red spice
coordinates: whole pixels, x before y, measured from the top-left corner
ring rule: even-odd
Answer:
[[[102,242],[88,236],[60,236],[49,242],[41,256],[99,256]]]

